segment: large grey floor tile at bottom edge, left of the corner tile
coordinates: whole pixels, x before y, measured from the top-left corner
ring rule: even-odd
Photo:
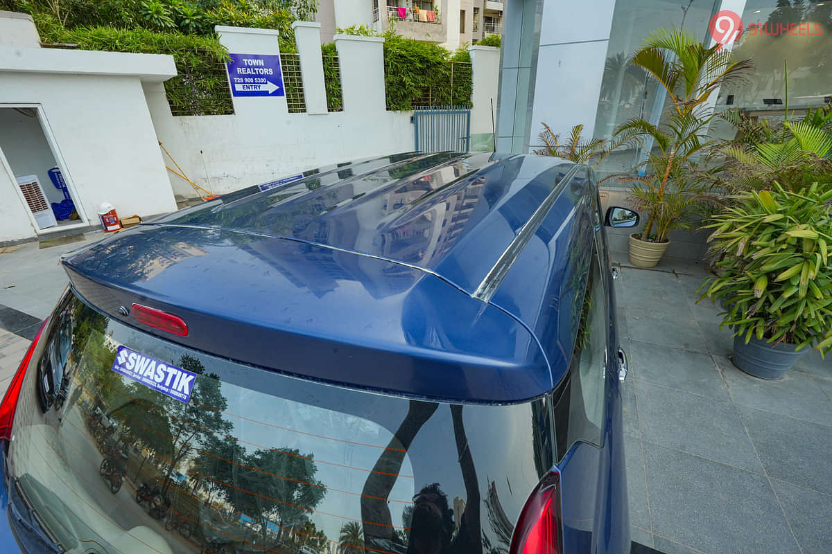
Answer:
[[[660,446],[645,457],[656,535],[709,554],[800,552],[765,476]]]

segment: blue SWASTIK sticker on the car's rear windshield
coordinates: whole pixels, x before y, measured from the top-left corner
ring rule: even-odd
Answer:
[[[112,370],[186,404],[191,400],[196,380],[196,373],[168,365],[126,346],[118,347]]]

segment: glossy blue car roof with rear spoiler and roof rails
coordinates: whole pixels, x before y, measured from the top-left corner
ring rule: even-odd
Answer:
[[[396,154],[227,194],[63,263],[93,306],[185,346],[336,384],[518,402],[567,370],[574,310],[558,306],[592,252],[587,180],[557,158]],[[131,302],[182,316],[188,335],[121,315]]]

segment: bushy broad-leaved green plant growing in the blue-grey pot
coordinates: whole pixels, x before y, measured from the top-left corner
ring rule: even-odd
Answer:
[[[752,336],[832,348],[832,189],[812,184],[798,192],[780,184],[747,191],[711,218],[706,228],[718,277],[700,301],[726,306],[722,327],[745,342]]]

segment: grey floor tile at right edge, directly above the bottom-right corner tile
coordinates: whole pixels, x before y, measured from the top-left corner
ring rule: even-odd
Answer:
[[[740,406],[751,441],[772,478],[832,494],[832,427]]]

